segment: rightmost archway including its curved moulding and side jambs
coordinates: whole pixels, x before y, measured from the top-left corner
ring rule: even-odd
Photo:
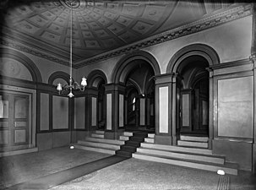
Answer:
[[[209,68],[218,64],[215,50],[204,44],[183,47],[170,60],[166,73],[172,73],[172,137],[180,133],[199,134],[213,139],[213,79]]]

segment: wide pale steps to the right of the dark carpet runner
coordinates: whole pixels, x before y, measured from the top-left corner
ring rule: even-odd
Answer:
[[[237,165],[227,163],[225,157],[213,155],[212,150],[206,148],[208,138],[182,136],[178,146],[141,143],[133,158],[204,171],[223,170],[227,174],[237,175]]]

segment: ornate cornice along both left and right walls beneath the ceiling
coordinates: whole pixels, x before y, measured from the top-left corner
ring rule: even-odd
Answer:
[[[125,53],[133,52],[135,50],[145,48],[148,46],[154,46],[154,45],[160,44],[162,42],[172,41],[174,39],[177,39],[177,38],[185,36],[185,35],[191,35],[193,33],[197,33],[202,30],[207,30],[207,29],[213,28],[213,27],[221,25],[221,24],[226,24],[226,23],[231,22],[236,19],[241,19],[241,18],[247,17],[252,14],[251,8],[252,8],[251,4],[242,5],[242,6],[239,6],[236,8],[231,8],[229,10],[226,10],[225,12],[211,15],[210,17],[200,19],[198,21],[183,25],[181,27],[177,27],[176,29],[173,29],[173,30],[168,30],[159,35],[154,35],[154,36],[151,36],[150,38],[144,39],[142,41],[132,43],[128,46],[123,46],[123,47],[117,48],[115,50],[112,50],[110,52],[102,53],[95,57],[91,57],[91,58],[84,59],[84,60],[79,60],[77,62],[74,62],[74,68],[82,68],[85,65],[90,65],[92,63],[103,61],[103,60],[106,60],[111,57],[117,57],[117,56],[123,55]],[[21,45],[17,44],[15,41],[12,41],[10,39],[8,39],[8,41],[7,41],[6,39],[3,38],[2,41],[0,41],[0,43],[4,46],[9,46],[9,47],[17,49],[19,51],[28,52],[37,57],[43,57],[52,62],[57,62],[57,63],[68,66],[67,60],[63,60],[58,57],[53,57],[49,53],[40,52],[37,50],[31,50],[30,48],[21,46]]]

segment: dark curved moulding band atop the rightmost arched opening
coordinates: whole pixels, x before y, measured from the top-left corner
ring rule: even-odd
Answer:
[[[184,46],[173,55],[166,68],[166,73],[177,73],[177,68],[182,60],[194,55],[204,57],[209,63],[209,66],[220,63],[220,57],[212,47],[205,44],[192,44]]]

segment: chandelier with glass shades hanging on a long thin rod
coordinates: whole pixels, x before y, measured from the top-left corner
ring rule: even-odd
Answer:
[[[72,98],[74,97],[73,90],[80,90],[84,91],[85,86],[87,85],[85,77],[82,78],[81,84],[78,84],[77,82],[74,81],[72,77],[72,35],[73,35],[73,1],[70,2],[70,7],[71,7],[71,14],[70,14],[70,56],[69,56],[69,84],[65,84],[64,86],[60,83],[57,84],[57,91],[58,94],[60,95],[63,93],[63,90],[69,91],[68,97]]]

